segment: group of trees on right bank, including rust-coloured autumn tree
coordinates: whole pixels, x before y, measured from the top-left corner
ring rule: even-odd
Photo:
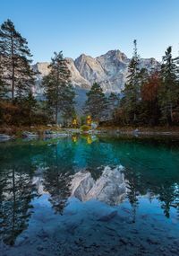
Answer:
[[[140,69],[140,57],[134,40],[134,52],[124,97],[115,112],[115,122],[122,125],[176,125],[179,123],[179,57],[166,49],[162,64],[150,71]]]

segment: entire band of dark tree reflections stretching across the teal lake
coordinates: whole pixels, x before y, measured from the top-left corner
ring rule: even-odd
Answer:
[[[37,195],[33,178],[40,176],[55,213],[62,215],[71,195],[72,175],[81,169],[91,172],[97,181],[105,166],[124,166],[132,222],[143,196],[150,201],[157,199],[168,218],[175,207],[179,217],[178,151],[170,150],[169,145],[106,138],[93,141],[91,137],[13,143],[5,144],[0,154],[0,236],[6,244],[13,245],[28,227],[32,199]],[[40,173],[38,166],[44,167]]]

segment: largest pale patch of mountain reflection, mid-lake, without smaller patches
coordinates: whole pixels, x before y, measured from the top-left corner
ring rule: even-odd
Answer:
[[[123,201],[127,193],[122,165],[115,169],[105,167],[102,175],[95,181],[90,172],[77,172],[72,177],[71,196],[87,201],[98,199],[109,205],[117,205]]]

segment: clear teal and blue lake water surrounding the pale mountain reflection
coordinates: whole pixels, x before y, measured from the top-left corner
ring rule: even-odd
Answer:
[[[123,201],[114,171],[121,165]],[[75,173],[90,177],[76,197]],[[87,199],[81,195],[91,181],[102,192]],[[179,142],[69,137],[0,144],[0,241],[1,255],[178,255]]]

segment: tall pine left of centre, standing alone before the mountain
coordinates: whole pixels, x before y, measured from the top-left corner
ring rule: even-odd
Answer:
[[[62,51],[55,52],[49,65],[50,73],[45,76],[42,84],[45,87],[47,106],[55,114],[55,123],[58,122],[58,113],[62,117],[68,118],[74,111],[75,93],[70,84],[71,73],[67,66],[66,59]]]

